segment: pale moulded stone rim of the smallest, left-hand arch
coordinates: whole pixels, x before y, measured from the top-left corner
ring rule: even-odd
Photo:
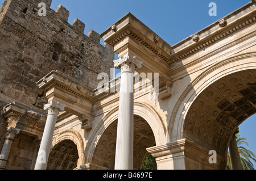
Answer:
[[[51,149],[64,140],[71,140],[74,142],[79,154],[77,166],[84,165],[84,142],[82,141],[82,137],[79,132],[69,129],[57,134],[53,137]]]

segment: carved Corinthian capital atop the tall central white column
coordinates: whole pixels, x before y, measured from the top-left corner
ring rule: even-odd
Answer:
[[[114,60],[114,66],[116,69],[121,69],[121,71],[130,71],[134,72],[136,69],[142,67],[142,61],[137,60],[136,57],[130,56],[127,53],[125,56],[122,56],[118,60]]]

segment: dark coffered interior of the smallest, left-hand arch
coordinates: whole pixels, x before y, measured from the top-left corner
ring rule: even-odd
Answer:
[[[79,153],[76,144],[63,140],[53,146],[47,163],[47,170],[73,170],[77,167]]]

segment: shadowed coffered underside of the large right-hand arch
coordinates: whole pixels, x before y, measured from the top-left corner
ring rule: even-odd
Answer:
[[[201,92],[185,117],[183,137],[226,157],[230,138],[256,113],[256,70],[227,75]]]

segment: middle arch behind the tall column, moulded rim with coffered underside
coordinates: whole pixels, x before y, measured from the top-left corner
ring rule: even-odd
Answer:
[[[166,141],[166,129],[163,126],[163,120],[158,116],[158,113],[152,108],[151,106],[147,105],[146,103],[140,103],[135,102],[134,103],[134,140],[139,139],[139,136],[136,137],[136,133],[143,133],[145,129],[148,134],[151,134],[150,139],[148,138],[148,141],[150,141],[150,144],[147,144],[146,146],[141,145],[143,147],[143,154],[139,155],[139,157],[143,157],[142,160],[140,160],[137,164],[137,166],[134,166],[134,169],[139,169],[141,167],[140,164],[142,164],[142,161],[144,160],[144,156],[146,155],[146,148],[149,148],[151,146],[155,145],[161,145],[163,142]],[[109,157],[112,158],[112,161],[109,163],[104,162],[97,162],[96,161],[96,154],[99,154],[100,152],[97,152],[96,149],[100,150],[101,145],[100,142],[104,140],[104,136],[112,137],[110,140],[116,139],[116,132],[117,132],[117,119],[118,119],[118,107],[113,108],[111,111],[109,111],[101,121],[101,124],[98,124],[98,127],[93,132],[91,138],[88,141],[88,146],[86,146],[85,150],[85,163],[90,163],[90,169],[110,169],[114,168],[114,151],[115,151],[115,145],[113,145],[113,142],[108,142],[108,145],[112,149],[109,151]],[[138,122],[139,121],[139,122]],[[140,124],[143,124],[139,126]],[[113,134],[114,133],[114,134]],[[147,133],[145,133],[146,135]],[[109,138],[108,138],[109,139]],[[141,137],[143,139],[143,137]],[[154,141],[152,141],[154,140]],[[134,151],[137,149],[135,148],[134,141]],[[151,144],[152,143],[152,144]],[[149,146],[148,146],[149,145]],[[97,148],[98,146],[98,148]],[[139,146],[137,144],[137,146]],[[148,146],[148,147],[147,147]],[[104,146],[102,147],[106,149]],[[106,152],[105,152],[106,153]],[[112,156],[110,156],[112,154]],[[134,153],[134,157],[137,157],[138,153]],[[100,157],[99,157],[100,160]],[[136,158],[134,159],[134,164],[136,162]],[[99,164],[99,165],[97,165]],[[105,166],[103,166],[105,165]]]

